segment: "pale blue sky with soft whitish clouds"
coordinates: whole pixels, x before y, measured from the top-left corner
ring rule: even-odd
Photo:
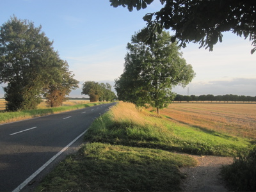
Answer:
[[[81,95],[84,81],[114,85],[124,70],[127,43],[146,26],[142,17],[162,7],[157,0],[145,10],[133,12],[122,6],[113,8],[108,0],[0,0],[0,4],[0,26],[15,15],[34,22],[36,27],[41,25],[45,36],[54,41],[54,50],[80,82],[69,97],[86,97]],[[173,92],[256,95],[256,52],[250,54],[253,47],[248,39],[225,32],[223,42],[212,52],[198,47],[189,43],[180,50],[196,77],[186,88],[177,86]],[[0,88],[0,97],[3,95]]]

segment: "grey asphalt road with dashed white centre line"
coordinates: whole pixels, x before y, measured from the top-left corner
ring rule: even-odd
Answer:
[[[0,191],[19,191],[28,185],[31,177],[52,164],[63,148],[81,138],[93,120],[113,105],[0,125]]]

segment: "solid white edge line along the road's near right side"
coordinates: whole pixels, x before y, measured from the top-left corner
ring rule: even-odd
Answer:
[[[65,150],[67,150],[68,147],[70,147],[70,145],[72,145],[73,143],[75,143],[79,138],[81,138],[81,136],[83,136],[84,133],[86,133],[86,131],[88,131],[88,129],[86,129],[84,132],[82,132],[79,136],[77,136],[76,139],[74,139],[73,141],[71,141],[71,143],[69,143],[66,147],[64,147],[60,152],[58,152],[58,154],[56,154],[55,156],[51,157],[51,159],[49,161],[47,161],[43,166],[41,166],[38,170],[36,170],[35,173],[33,173],[30,177],[28,177],[28,179],[24,180],[24,182],[22,182],[22,184],[20,184],[16,189],[14,189],[12,192],[19,192],[21,189],[23,189],[32,179],[34,179],[36,177],[36,175],[38,175],[40,172],[42,172],[42,170],[44,170],[50,163],[52,163],[52,161],[54,161],[54,159],[56,159],[58,156],[60,156],[60,154],[62,154]]]

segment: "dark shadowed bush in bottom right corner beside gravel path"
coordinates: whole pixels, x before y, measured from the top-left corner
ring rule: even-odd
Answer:
[[[245,156],[222,168],[223,178],[235,191],[256,191],[256,146]]]

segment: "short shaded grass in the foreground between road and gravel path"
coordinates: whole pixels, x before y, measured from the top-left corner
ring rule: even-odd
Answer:
[[[188,156],[164,150],[88,143],[67,157],[36,191],[179,191]]]

